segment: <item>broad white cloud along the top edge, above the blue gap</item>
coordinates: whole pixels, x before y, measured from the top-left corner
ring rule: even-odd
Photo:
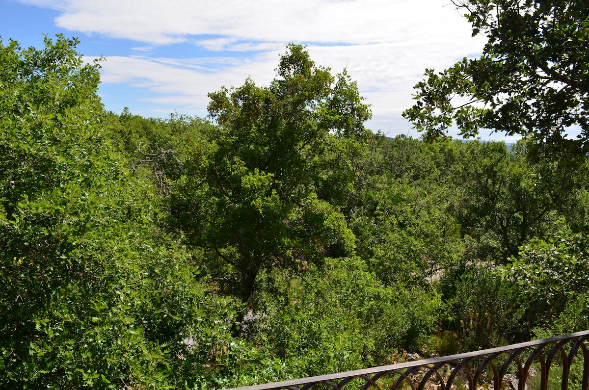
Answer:
[[[468,32],[448,0],[28,0],[62,11],[58,27],[150,44],[233,41],[368,44]],[[445,6],[446,5],[446,6]],[[434,34],[432,34],[432,32]],[[205,38],[210,42],[210,38]]]

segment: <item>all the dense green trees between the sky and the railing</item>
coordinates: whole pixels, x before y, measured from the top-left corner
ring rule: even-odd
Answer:
[[[2,42],[0,388],[219,389],[588,329],[589,6],[479,3],[513,2],[469,2],[489,44],[426,71],[419,139],[367,130],[350,75],[300,45],[269,86],[161,119],[105,111],[77,39]],[[535,80],[515,41],[546,15],[577,62]]]

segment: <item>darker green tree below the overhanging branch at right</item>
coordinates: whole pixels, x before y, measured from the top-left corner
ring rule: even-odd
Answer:
[[[550,183],[567,177],[566,171],[531,165],[524,154],[521,144],[512,153],[502,143],[466,144],[465,164],[453,175],[459,196],[452,212],[462,234],[475,237],[471,259],[505,263],[526,240],[550,229],[566,200],[567,189]]]

